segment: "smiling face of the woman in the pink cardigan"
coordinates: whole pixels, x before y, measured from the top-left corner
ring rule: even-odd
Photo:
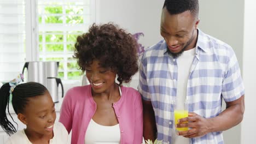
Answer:
[[[117,73],[101,67],[99,61],[92,61],[92,63],[86,67],[85,71],[93,92],[109,93],[110,89],[114,88]]]

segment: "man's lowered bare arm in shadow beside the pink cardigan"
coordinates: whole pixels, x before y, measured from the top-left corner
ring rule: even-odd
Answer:
[[[143,102],[143,137],[144,140],[156,139],[155,113],[151,101],[142,100]]]

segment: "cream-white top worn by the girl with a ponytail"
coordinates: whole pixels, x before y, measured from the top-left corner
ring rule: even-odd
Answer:
[[[68,133],[62,123],[55,122],[53,131],[54,131],[54,137],[53,139],[50,140],[49,144],[68,143]],[[28,140],[24,129],[19,130],[15,134],[11,135],[5,142],[5,144],[17,144],[17,143],[32,144],[30,140]]]

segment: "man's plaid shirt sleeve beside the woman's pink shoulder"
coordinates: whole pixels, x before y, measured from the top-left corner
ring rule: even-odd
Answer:
[[[139,85],[138,91],[141,93],[143,100],[150,101],[150,93],[147,82],[146,59],[142,57],[141,64],[139,65]]]

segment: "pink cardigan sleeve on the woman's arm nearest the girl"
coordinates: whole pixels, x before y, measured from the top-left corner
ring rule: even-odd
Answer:
[[[61,110],[60,110],[60,120],[64,127],[67,129],[68,134],[70,133],[72,129],[72,89],[69,89],[67,94],[65,95],[62,105],[61,105]]]

